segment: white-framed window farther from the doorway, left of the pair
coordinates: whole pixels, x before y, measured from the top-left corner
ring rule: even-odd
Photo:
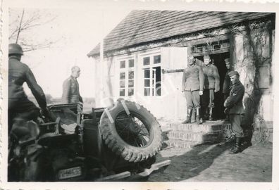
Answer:
[[[135,60],[126,59],[119,62],[119,96],[134,95]]]

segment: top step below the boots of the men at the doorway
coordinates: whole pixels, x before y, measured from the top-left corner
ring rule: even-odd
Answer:
[[[224,129],[229,129],[230,123],[228,122],[204,122],[201,125],[196,123],[171,123],[163,127],[165,130],[185,131],[185,132],[221,132]]]

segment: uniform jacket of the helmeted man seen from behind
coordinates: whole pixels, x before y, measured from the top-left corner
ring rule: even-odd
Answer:
[[[30,68],[21,63],[16,56],[8,58],[8,99],[9,101],[20,101],[27,99],[23,90],[24,82],[27,83],[41,108],[46,107],[46,96],[44,91],[37,84]]]

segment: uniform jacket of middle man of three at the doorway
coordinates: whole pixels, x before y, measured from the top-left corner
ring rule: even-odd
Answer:
[[[203,65],[202,70],[204,72],[204,89],[220,90],[220,77],[218,69],[215,65]]]

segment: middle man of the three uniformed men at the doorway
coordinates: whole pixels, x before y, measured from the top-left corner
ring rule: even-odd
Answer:
[[[220,77],[218,69],[215,65],[211,64],[211,58],[209,55],[204,56],[204,64],[202,70],[204,72],[204,94],[202,95],[202,112],[207,119],[209,114],[209,120],[213,120],[213,108],[214,108],[214,92],[220,90]]]

